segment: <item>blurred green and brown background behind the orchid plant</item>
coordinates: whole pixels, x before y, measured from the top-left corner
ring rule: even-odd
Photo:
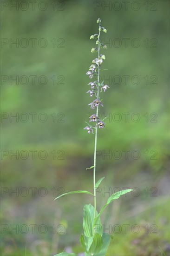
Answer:
[[[82,253],[83,206],[93,198],[54,199],[93,189],[86,168],[93,165],[94,135],[83,128],[94,113],[85,73],[97,57],[89,38],[98,33],[98,17],[107,29],[101,81],[110,86],[101,96],[100,113],[109,118],[98,132],[97,180],[105,176],[98,210],[111,192],[136,188],[102,216],[105,232],[114,235],[108,255],[170,255],[169,1],[4,0],[3,256],[50,256],[65,247]]]

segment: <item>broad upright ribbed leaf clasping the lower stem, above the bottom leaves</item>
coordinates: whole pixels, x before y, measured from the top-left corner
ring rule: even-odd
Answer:
[[[97,211],[96,216],[98,216]],[[94,235],[94,207],[92,204],[86,204],[84,206],[83,229],[85,236],[91,237]],[[100,217],[98,217],[98,220],[95,222],[95,233],[98,233],[101,236],[103,233],[103,226],[100,221]]]

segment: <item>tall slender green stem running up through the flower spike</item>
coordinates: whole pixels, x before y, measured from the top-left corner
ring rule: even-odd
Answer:
[[[100,28],[100,22],[99,22],[99,28]],[[100,30],[98,33],[98,40],[100,39]],[[98,44],[98,58],[100,56],[100,44]],[[98,83],[99,83],[99,71],[100,66],[98,65]],[[99,97],[99,86],[98,86],[98,96]],[[96,110],[96,116],[98,117],[98,106]],[[95,129],[95,142],[94,142],[94,171],[93,171],[93,186],[94,186],[94,217],[96,218],[96,150],[97,150],[97,138],[98,138],[98,126],[97,126],[97,121],[96,121],[96,129]],[[94,233],[95,233],[95,227],[94,227]]]

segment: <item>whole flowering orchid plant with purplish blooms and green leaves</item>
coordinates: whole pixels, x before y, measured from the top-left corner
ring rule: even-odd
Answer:
[[[98,28],[98,34],[91,35],[90,39],[94,39],[96,41],[96,46],[95,48],[92,48],[91,52],[92,53],[98,53],[98,57],[92,60],[92,65],[89,67],[89,70],[87,71],[86,75],[89,75],[89,78],[92,79],[94,75],[97,75],[97,80],[90,82],[88,85],[91,86],[91,90],[87,91],[87,93],[90,93],[90,97],[95,96],[96,99],[93,100],[90,104],[92,109],[96,108],[96,113],[90,116],[90,121],[93,122],[94,125],[90,125],[89,123],[88,126],[86,126],[84,129],[88,131],[88,133],[94,134],[95,130],[95,143],[94,143],[94,164],[90,168],[87,169],[92,169],[93,168],[93,190],[94,193],[91,193],[86,190],[77,190],[77,191],[71,191],[68,193],[64,193],[60,196],[58,196],[56,199],[63,195],[69,195],[69,194],[76,194],[76,193],[85,193],[85,194],[90,194],[94,197],[94,206],[92,204],[86,204],[84,206],[84,218],[83,218],[83,229],[84,229],[84,234],[81,234],[80,236],[80,243],[85,251],[85,256],[105,256],[107,249],[111,243],[111,239],[113,238],[111,235],[107,233],[103,233],[103,226],[100,220],[100,216],[102,215],[104,209],[114,200],[118,199],[121,195],[124,195],[128,192],[130,192],[133,189],[125,189],[118,191],[114,194],[112,194],[105,205],[100,209],[99,213],[97,212],[96,209],[96,189],[100,185],[100,183],[103,181],[103,178],[100,178],[98,182],[96,182],[96,149],[97,149],[97,135],[98,135],[98,128],[105,128],[105,122],[104,120],[100,120],[98,117],[98,111],[99,111],[99,106],[103,107],[103,103],[100,100],[99,94],[102,92],[102,90],[105,92],[107,88],[109,88],[108,85],[104,84],[103,82],[99,82],[99,74],[101,70],[101,65],[103,61],[105,60],[105,55],[100,54],[100,48],[107,49],[107,47],[101,43],[100,39],[100,33],[104,32],[107,33],[107,30],[105,27],[101,26],[101,20],[98,19],[97,23],[99,23],[99,28]],[[57,254],[56,256],[76,256],[75,254],[68,254],[66,252],[62,252],[60,254]]]

